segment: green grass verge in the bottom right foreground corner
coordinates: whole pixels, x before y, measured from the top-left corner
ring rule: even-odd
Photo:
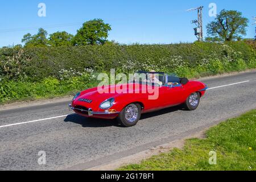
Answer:
[[[256,110],[212,127],[206,139],[188,139],[182,150],[152,156],[118,170],[256,170]],[[209,164],[209,152],[217,164]]]

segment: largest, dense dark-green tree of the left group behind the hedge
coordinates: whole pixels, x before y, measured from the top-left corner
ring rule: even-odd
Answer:
[[[108,23],[104,23],[102,19],[93,19],[85,22],[82,27],[77,30],[73,44],[75,46],[84,45],[103,45],[107,41],[108,32],[111,27]]]

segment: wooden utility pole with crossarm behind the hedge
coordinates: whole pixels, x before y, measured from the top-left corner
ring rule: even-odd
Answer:
[[[195,11],[197,10],[197,20],[192,20],[192,23],[196,24],[196,28],[194,28],[195,36],[199,41],[203,41],[203,8],[204,6],[196,7],[189,9],[187,11]]]

